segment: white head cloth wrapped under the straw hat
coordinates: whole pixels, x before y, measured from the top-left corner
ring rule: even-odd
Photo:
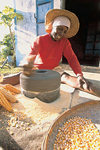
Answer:
[[[52,27],[61,26],[61,25],[70,28],[70,20],[65,16],[56,17],[52,23]]]

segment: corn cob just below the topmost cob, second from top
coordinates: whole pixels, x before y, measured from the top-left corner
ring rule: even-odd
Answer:
[[[10,94],[7,90],[4,88],[0,88],[0,92],[5,96],[5,98],[10,101],[11,103],[15,103],[17,101],[16,97]]]

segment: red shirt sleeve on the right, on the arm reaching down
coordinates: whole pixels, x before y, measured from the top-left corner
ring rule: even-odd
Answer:
[[[71,44],[69,42],[69,40],[66,41],[65,43],[65,47],[64,47],[64,51],[63,51],[64,56],[66,57],[70,67],[72,68],[72,70],[74,71],[74,73],[76,75],[82,75],[82,70],[81,70],[81,66],[80,63],[71,47]]]

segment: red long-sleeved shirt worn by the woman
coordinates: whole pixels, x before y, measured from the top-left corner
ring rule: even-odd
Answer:
[[[50,34],[39,36],[33,42],[30,54],[37,55],[34,66],[39,69],[54,69],[65,56],[74,73],[82,75],[79,61],[66,38],[53,41]]]

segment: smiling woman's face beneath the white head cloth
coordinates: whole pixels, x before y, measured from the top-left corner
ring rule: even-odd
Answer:
[[[58,41],[65,37],[68,28],[66,26],[53,27],[51,37],[53,40]]]

